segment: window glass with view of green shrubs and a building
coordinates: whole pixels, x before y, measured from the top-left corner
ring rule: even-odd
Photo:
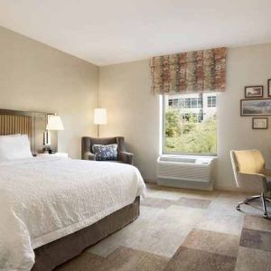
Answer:
[[[216,94],[164,96],[164,154],[216,154],[216,104]]]

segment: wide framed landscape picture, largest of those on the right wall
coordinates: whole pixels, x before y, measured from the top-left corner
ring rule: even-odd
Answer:
[[[240,100],[241,116],[271,116],[271,98]]]

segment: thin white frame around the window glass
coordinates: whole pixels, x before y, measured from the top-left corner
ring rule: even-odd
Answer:
[[[181,94],[182,95],[182,94]],[[216,93],[216,98],[218,98],[218,93]],[[207,101],[208,102],[208,101]],[[216,100],[217,102],[217,100]],[[203,99],[202,99],[202,103],[203,103]],[[218,115],[217,115],[217,120],[218,120]],[[205,156],[205,157],[217,157],[217,153],[218,153],[218,136],[217,136],[217,140],[216,140],[216,149],[217,152],[215,154],[211,154],[211,153],[185,153],[185,152],[181,152],[181,153],[177,153],[177,152],[165,152],[164,150],[164,145],[165,145],[165,95],[162,95],[162,155],[176,155],[176,156]],[[218,126],[217,126],[217,135],[218,135]]]

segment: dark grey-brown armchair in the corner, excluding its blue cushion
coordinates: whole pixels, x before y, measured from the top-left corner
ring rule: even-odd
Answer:
[[[117,144],[117,160],[114,160],[114,162],[133,164],[134,154],[126,152],[125,138],[123,136],[101,138],[84,136],[81,139],[81,144],[81,155],[83,160],[96,160],[96,155],[92,154],[92,145]]]

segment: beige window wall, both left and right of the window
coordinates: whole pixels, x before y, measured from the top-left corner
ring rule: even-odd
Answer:
[[[257,148],[271,162],[271,128],[252,130],[251,117],[240,117],[244,87],[265,86],[271,78],[271,43],[230,48],[227,91],[218,98],[218,176],[220,189],[236,189],[229,161],[230,149]],[[135,164],[145,179],[155,179],[159,153],[159,99],[150,94],[148,61],[110,65],[100,69],[100,95],[108,109],[102,135],[124,135]],[[266,93],[266,92],[265,92]],[[271,125],[270,125],[271,126]]]

